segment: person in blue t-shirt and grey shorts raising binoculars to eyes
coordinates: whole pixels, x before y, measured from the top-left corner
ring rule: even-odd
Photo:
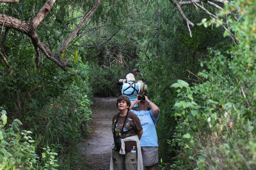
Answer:
[[[132,110],[135,104],[138,104],[138,111]],[[150,110],[148,110],[148,107],[150,107]],[[145,100],[139,100],[136,97],[131,103],[130,109],[140,119],[143,128],[143,135],[140,139],[143,166],[147,170],[154,170],[154,164],[158,162],[156,123],[160,110],[147,96],[145,96]]]

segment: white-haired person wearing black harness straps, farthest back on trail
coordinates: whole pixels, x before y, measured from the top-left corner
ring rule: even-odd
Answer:
[[[136,82],[134,74],[129,73],[126,76],[127,83],[124,83],[122,87],[122,95],[128,96],[131,103],[135,101],[137,94],[140,94],[140,84]],[[134,107],[138,105],[135,104]]]

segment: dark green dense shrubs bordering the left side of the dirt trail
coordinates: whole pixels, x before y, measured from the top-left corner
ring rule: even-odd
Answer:
[[[26,71],[22,62],[26,62]],[[16,60],[13,65],[15,71],[0,66],[0,103],[8,112],[8,124],[19,118],[23,123],[20,129],[33,132],[30,135],[36,143],[35,153],[41,157],[42,153],[54,150],[61,169],[81,164],[76,161],[79,159],[76,144],[90,130],[89,66],[78,61],[63,74],[55,64],[45,60],[44,67],[37,69],[28,51],[23,60]],[[45,162],[39,162],[38,166],[42,164]]]

